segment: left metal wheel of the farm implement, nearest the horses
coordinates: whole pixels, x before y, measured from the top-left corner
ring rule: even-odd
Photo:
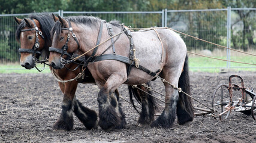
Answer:
[[[219,90],[220,89],[220,90]],[[221,84],[216,89],[215,94],[212,97],[212,108],[218,113],[223,113],[225,111],[225,105],[228,105],[230,103],[230,95],[227,92],[224,92],[224,90],[227,90],[227,85]],[[225,118],[227,118],[229,113]],[[223,119],[223,114],[219,116],[219,119]]]

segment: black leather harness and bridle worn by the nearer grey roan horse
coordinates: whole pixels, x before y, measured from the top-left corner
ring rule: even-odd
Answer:
[[[73,38],[75,39],[75,41],[77,42],[77,46],[79,48],[79,42],[77,41],[76,39],[76,35],[73,33],[73,29],[71,27],[71,23],[70,21],[68,21],[68,24],[70,26],[70,28],[62,28],[62,30],[70,30],[70,32],[72,32],[72,36]],[[110,23],[106,23],[107,24],[107,30],[108,30],[108,33],[110,36],[113,36],[113,29],[111,27],[111,24]],[[130,30],[127,30],[126,27],[122,27],[122,31],[125,31],[125,34],[128,36],[129,38],[129,45],[130,45],[130,52],[129,52],[129,57],[124,57],[122,55],[118,55],[116,54],[116,51],[115,51],[115,45],[114,43],[116,42],[116,40],[114,41],[113,38],[111,38],[111,41],[112,41],[112,45],[109,46],[109,48],[112,46],[112,50],[113,50],[113,53],[112,54],[104,54],[104,52],[106,52],[107,48],[101,55],[99,56],[95,56],[97,50],[98,50],[98,46],[100,44],[100,41],[101,41],[101,35],[102,35],[102,32],[103,32],[103,21],[101,21],[101,24],[100,24],[100,31],[98,33],[98,38],[97,38],[97,43],[96,43],[96,48],[94,48],[94,51],[92,52],[92,55],[89,56],[89,57],[83,57],[83,58],[79,58],[77,59],[78,61],[81,61],[83,62],[83,68],[85,69],[87,66],[88,66],[88,63],[91,62],[91,63],[94,63],[96,61],[103,61],[103,60],[116,60],[116,61],[121,61],[123,63],[126,63],[127,64],[127,77],[129,77],[129,73],[131,71],[131,68],[132,66],[135,66],[137,67],[138,69],[140,70],[143,70],[145,71],[146,73],[150,74],[151,76],[155,77],[156,74],[161,71],[160,69],[158,69],[157,71],[153,72],[153,71],[150,71],[149,69],[146,69],[145,67],[141,66],[141,65],[135,65],[135,61],[134,61],[134,41],[132,39],[132,33]],[[68,34],[69,35],[69,34]],[[63,64],[65,63],[68,63],[68,61],[72,61],[73,58],[76,58],[76,57],[79,57],[79,55],[77,54],[69,54],[67,52],[68,50],[68,46],[67,46],[67,43],[69,41],[69,38],[67,39],[67,42],[65,43],[64,46],[62,46],[62,49],[58,49],[58,48],[53,48],[53,47],[50,47],[49,48],[49,51],[52,51],[52,52],[58,52],[62,55],[68,55],[69,59],[68,60],[65,60],[66,62],[64,62]],[[62,59],[62,55],[61,55],[61,59]],[[63,62],[63,61],[62,61]],[[128,80],[128,78],[127,78]]]

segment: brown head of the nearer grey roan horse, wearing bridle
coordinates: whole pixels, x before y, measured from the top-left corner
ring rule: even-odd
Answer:
[[[49,64],[54,69],[62,69],[65,60],[68,60],[79,48],[79,42],[76,38],[76,24],[71,24],[58,15],[58,21],[55,22],[51,31],[52,47],[49,48]]]

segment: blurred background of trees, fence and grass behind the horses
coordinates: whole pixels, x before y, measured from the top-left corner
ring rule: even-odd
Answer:
[[[31,13],[55,13],[62,17],[93,15],[104,20],[119,20],[126,26],[171,27],[188,35],[230,48],[256,53],[256,1],[204,0],[1,0],[0,73],[19,66],[19,43],[15,41],[14,17]],[[188,51],[210,57],[256,64],[255,56],[245,55],[182,36]],[[233,68],[256,70],[248,64],[229,63],[189,54],[193,70]],[[13,64],[14,63],[14,64]]]

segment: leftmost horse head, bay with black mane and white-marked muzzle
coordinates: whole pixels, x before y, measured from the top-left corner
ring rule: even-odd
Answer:
[[[35,67],[35,62],[42,54],[49,57],[49,45],[52,44],[50,29],[54,23],[49,17],[47,14],[34,14],[23,20],[14,17],[19,24],[16,40],[20,42],[20,65],[26,69]]]

